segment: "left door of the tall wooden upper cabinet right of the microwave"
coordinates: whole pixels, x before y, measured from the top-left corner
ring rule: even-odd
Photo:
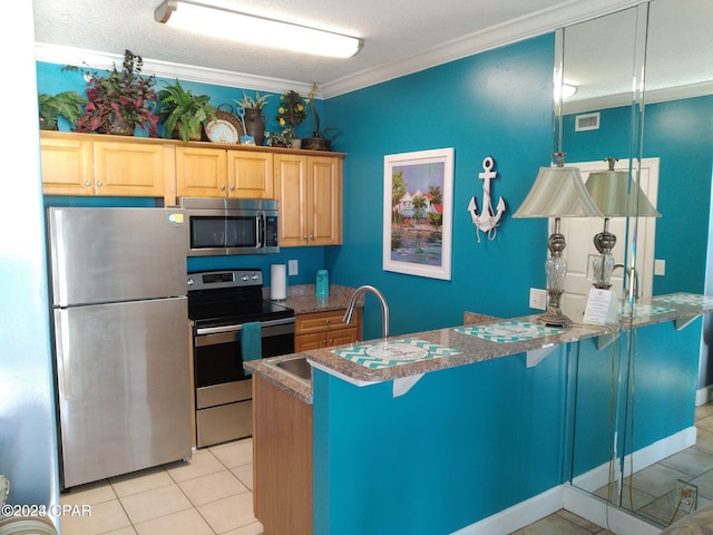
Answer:
[[[275,193],[280,201],[280,245],[307,244],[306,233],[306,157],[275,155]]]

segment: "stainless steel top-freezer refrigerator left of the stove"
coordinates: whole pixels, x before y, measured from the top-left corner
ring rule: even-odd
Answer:
[[[180,210],[48,210],[62,487],[191,457]]]

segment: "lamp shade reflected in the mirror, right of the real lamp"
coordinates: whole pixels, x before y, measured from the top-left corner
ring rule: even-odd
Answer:
[[[637,183],[632,183],[629,192],[624,171],[590,173],[585,187],[605,217],[661,217]]]

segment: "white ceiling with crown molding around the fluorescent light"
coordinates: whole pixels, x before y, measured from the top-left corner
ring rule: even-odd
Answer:
[[[37,58],[107,68],[126,48],[145,71],[330,97],[541,35],[642,0],[205,0],[361,37],[353,58],[324,59],[192,35],[154,21],[160,0],[32,0]],[[710,1],[710,0],[705,0]]]

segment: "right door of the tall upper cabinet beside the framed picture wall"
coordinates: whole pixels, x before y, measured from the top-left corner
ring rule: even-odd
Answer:
[[[307,157],[307,227],[310,245],[342,243],[342,162]]]

